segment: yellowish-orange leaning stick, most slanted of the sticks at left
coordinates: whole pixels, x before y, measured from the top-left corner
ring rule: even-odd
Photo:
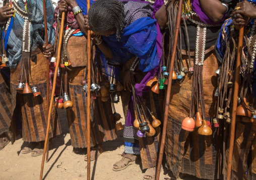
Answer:
[[[53,83],[52,83],[52,93],[51,93],[50,107],[49,107],[49,110],[48,110],[47,130],[46,130],[45,139],[49,138],[51,108],[52,108],[52,103],[53,103],[53,98],[54,98],[54,91],[55,91],[55,88],[56,88],[56,79],[57,79],[58,65],[59,65],[59,60],[60,60],[60,51],[61,51],[61,43],[62,43],[62,36],[63,36],[64,20],[65,20],[65,13],[62,12],[61,24],[60,24],[60,33],[59,33],[59,42],[58,42],[57,62],[56,62],[56,67],[55,67],[55,71],[54,71]],[[40,172],[40,180],[42,180],[42,177],[43,177],[43,166],[44,166],[46,146],[47,146],[47,144],[44,143],[43,159],[42,159],[41,172]]]

